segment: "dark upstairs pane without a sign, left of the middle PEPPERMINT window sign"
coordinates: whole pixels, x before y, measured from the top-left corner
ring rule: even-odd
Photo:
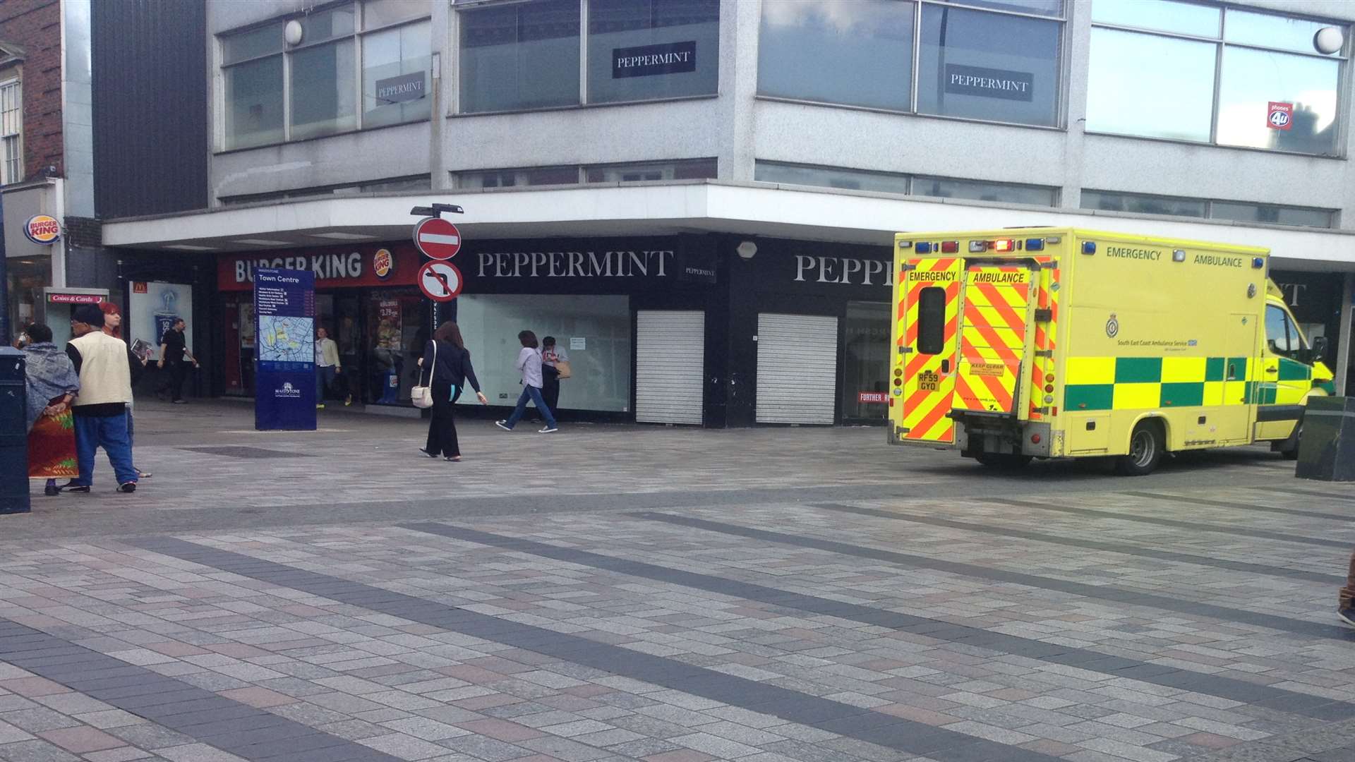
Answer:
[[[462,111],[577,103],[577,0],[539,0],[461,12]]]

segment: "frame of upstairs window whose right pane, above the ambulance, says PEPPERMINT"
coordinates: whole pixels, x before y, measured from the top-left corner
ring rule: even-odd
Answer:
[[[793,0],[778,0],[778,1],[793,1]],[[1054,130],[1066,132],[1068,130],[1068,83],[1072,73],[1072,58],[1068,54],[1069,45],[1072,42],[1072,19],[1069,19],[1069,7],[1075,0],[1062,0],[1058,15],[1043,15],[1034,14],[1028,11],[1007,11],[1001,8],[986,8],[982,5],[972,5],[963,0],[948,1],[948,0],[900,0],[913,4],[912,9],[912,24],[913,24],[913,39],[912,39],[912,73],[909,83],[909,103],[906,110],[900,108],[883,108],[879,106],[855,106],[851,103],[835,103],[832,100],[814,100],[809,98],[786,98],[783,95],[764,95],[759,88],[755,91],[753,98],[757,100],[770,100],[776,103],[797,103],[801,106],[828,106],[833,108],[848,108],[852,111],[870,111],[875,114],[897,114],[904,117],[920,117],[924,119],[947,119],[953,122],[970,122],[977,125],[1003,125],[1008,127],[1026,127],[1031,130]],[[1056,69],[1058,71],[1058,88],[1057,88],[1057,102],[1054,106],[1054,123],[1053,125],[1031,125],[1028,122],[1004,122],[1001,119],[976,119],[973,117],[953,117],[948,114],[930,114],[917,110],[917,83],[920,79],[919,68],[921,66],[921,31],[923,31],[923,5],[935,5],[943,8],[959,8],[963,11],[976,11],[982,14],[999,14],[1003,16],[1019,16],[1024,19],[1035,19],[1042,22],[1057,23],[1058,30],[1058,56],[1056,58]],[[762,34],[759,28],[759,35]],[[760,39],[759,39],[760,42]]]

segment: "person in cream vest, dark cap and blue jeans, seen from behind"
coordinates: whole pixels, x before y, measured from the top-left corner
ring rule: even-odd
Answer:
[[[127,403],[131,384],[141,374],[141,362],[126,342],[102,331],[103,310],[92,304],[76,308],[70,317],[75,339],[66,344],[66,357],[80,376],[75,412],[76,454],[80,476],[64,491],[88,492],[93,484],[93,458],[103,447],[118,479],[119,492],[137,491],[137,469],[131,465],[131,442],[127,439]]]

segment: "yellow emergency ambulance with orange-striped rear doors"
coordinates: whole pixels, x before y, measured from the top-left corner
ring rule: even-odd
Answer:
[[[898,233],[889,441],[985,465],[1270,442],[1335,393],[1263,248],[1008,228]]]

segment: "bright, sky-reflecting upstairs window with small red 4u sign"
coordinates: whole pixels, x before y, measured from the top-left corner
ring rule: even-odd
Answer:
[[[1095,0],[1092,24],[1088,132],[1341,153],[1346,24],[1172,0]]]

